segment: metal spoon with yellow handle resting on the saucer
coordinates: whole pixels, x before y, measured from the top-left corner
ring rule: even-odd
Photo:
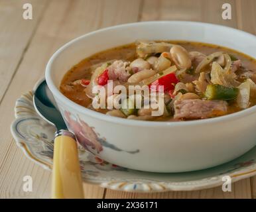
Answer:
[[[33,103],[38,115],[50,125],[54,125],[57,130],[54,136],[52,198],[83,198],[76,137],[67,131],[45,80],[34,89]]]

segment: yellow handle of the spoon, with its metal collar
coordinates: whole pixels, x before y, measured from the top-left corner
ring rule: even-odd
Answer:
[[[52,198],[83,198],[78,146],[74,134],[58,131],[54,139]]]

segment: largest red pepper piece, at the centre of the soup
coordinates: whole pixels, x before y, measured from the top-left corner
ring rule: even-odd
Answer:
[[[159,91],[159,85],[163,85],[164,92],[170,91],[174,89],[175,84],[178,82],[179,80],[178,78],[176,78],[176,75],[174,73],[170,73],[170,74],[167,74],[166,76],[163,76],[162,78],[157,79],[156,81],[153,81],[153,83],[149,85],[149,88],[152,90],[153,88],[151,88],[151,86],[155,85],[156,90]]]

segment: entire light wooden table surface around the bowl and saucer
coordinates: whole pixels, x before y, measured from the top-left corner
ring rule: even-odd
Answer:
[[[32,4],[32,20],[23,19],[24,3]],[[224,3],[232,6],[231,20],[222,19]],[[0,0],[0,198],[50,197],[50,172],[25,157],[10,125],[15,100],[44,76],[52,53],[98,28],[153,20],[202,21],[256,34],[256,0]],[[23,191],[26,175],[32,192]],[[125,193],[90,184],[84,191],[86,198],[255,198],[256,177],[232,184],[231,192]]]

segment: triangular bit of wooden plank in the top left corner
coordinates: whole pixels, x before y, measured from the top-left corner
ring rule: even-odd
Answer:
[[[32,20],[23,19],[24,3],[32,4]],[[0,102],[22,60],[45,7],[46,1],[0,1]]]

